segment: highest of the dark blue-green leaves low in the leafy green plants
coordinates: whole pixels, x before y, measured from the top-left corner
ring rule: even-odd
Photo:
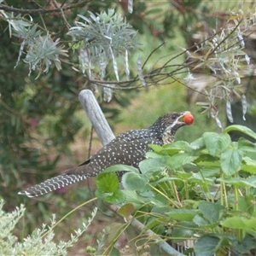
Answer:
[[[224,207],[218,203],[212,203],[210,201],[201,201],[198,209],[203,214],[203,217],[209,221],[209,224],[215,224],[218,222],[222,215]]]

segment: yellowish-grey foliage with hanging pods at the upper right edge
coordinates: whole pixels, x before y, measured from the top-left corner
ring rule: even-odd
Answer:
[[[219,99],[226,102],[226,113],[230,123],[234,121],[232,102],[241,101],[242,118],[245,119],[247,98],[244,95],[245,84],[242,84],[241,79],[252,70],[244,37],[248,37],[251,33],[250,29],[255,26],[256,15],[245,15],[241,11],[232,15],[226,26],[221,27],[219,31],[213,31],[212,36],[201,40],[202,43],[196,45],[197,49],[194,53],[189,52],[189,58],[197,61],[194,69],[211,70],[215,77],[214,84],[204,92],[207,102],[198,102],[198,104],[206,108],[205,111],[210,113],[221,129],[217,108]],[[201,51],[204,52],[203,56],[198,54]]]

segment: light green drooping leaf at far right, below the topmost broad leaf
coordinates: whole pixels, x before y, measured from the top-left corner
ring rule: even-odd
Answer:
[[[241,169],[243,152],[237,148],[229,148],[220,155],[220,166],[225,175],[231,176]]]

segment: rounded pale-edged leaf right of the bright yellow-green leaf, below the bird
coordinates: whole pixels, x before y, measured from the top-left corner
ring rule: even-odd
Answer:
[[[137,190],[142,189],[149,181],[146,174],[138,174],[135,172],[126,172],[122,177],[124,189]]]

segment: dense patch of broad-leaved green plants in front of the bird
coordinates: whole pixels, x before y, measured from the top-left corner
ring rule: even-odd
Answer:
[[[152,145],[154,152],[148,153],[139,170],[112,166],[102,172],[97,177],[96,195],[119,204],[119,212],[126,218],[132,212],[145,225],[143,231],[154,230],[172,240],[174,247],[175,243],[195,240],[195,247],[188,253],[253,253],[256,144],[243,137],[232,142],[230,131],[256,139],[256,133],[247,127],[232,125],[220,134],[205,132],[193,143]],[[113,172],[120,170],[126,171],[122,177],[124,190],[113,178]],[[144,242],[154,244],[150,237]]]

